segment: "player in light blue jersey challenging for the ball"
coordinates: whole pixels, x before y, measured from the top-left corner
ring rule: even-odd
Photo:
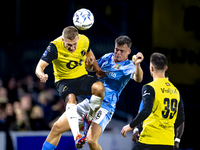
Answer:
[[[98,65],[106,75],[106,77],[99,79],[104,84],[105,97],[101,108],[91,122],[88,132],[85,133],[87,134],[87,142],[91,150],[102,150],[98,144],[98,139],[110,122],[119,96],[128,81],[133,79],[136,82],[141,82],[143,79],[143,71],[140,66],[144,59],[143,54],[137,53],[133,63],[133,61],[128,59],[128,55],[131,53],[131,45],[132,42],[128,36],[119,36],[115,40],[114,53],[105,54],[97,60]],[[90,58],[86,61],[89,71],[93,71],[93,59],[95,58]],[[89,99],[85,99],[78,104],[77,111],[80,118],[89,112],[89,106]]]

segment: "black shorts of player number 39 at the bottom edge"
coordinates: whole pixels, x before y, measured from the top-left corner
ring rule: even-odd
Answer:
[[[170,145],[149,145],[137,142],[131,150],[173,150]]]

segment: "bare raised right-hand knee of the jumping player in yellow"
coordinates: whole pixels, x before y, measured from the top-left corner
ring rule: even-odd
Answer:
[[[99,96],[99,97],[104,97],[104,85],[102,82],[95,82],[92,85],[92,94]]]

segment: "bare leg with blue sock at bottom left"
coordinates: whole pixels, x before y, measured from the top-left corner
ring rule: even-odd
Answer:
[[[53,124],[51,131],[43,144],[42,150],[54,150],[63,132],[70,129],[65,113]]]

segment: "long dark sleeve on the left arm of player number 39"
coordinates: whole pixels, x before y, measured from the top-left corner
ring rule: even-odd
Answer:
[[[145,85],[142,88],[142,99],[143,99],[143,109],[130,123],[130,127],[134,128],[141,122],[143,122],[150,114],[153,108],[153,102],[155,99],[155,91],[152,86]]]

